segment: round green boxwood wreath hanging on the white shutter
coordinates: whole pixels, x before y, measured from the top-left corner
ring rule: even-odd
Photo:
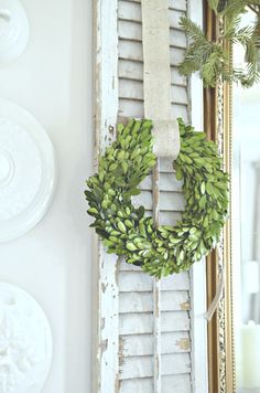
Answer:
[[[186,270],[216,246],[228,209],[228,174],[217,146],[204,132],[178,120],[181,151],[173,162],[183,179],[186,201],[175,226],[154,227],[144,208],[131,197],[155,164],[152,121],[132,119],[119,124],[116,141],[99,158],[98,173],[87,181],[88,213],[108,253],[123,256],[152,276]]]

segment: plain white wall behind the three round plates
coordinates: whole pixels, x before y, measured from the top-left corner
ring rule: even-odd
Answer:
[[[84,181],[91,170],[90,0],[23,0],[31,40],[0,68],[0,97],[30,110],[57,155],[58,183],[42,222],[0,246],[0,279],[32,294],[50,318],[53,367],[44,393],[90,392],[90,241]]]

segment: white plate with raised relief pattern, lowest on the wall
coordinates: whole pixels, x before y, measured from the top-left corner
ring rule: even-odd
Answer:
[[[42,308],[24,290],[0,283],[0,393],[40,393],[52,352]]]

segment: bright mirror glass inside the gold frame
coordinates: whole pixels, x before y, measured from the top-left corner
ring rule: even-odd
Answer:
[[[241,26],[256,25],[252,10]],[[246,66],[234,45],[234,64]],[[235,373],[238,393],[260,393],[260,83],[232,86],[231,236]]]

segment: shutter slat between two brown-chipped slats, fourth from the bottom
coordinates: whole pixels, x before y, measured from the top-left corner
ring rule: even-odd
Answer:
[[[161,312],[161,331],[187,331],[189,318],[187,311],[163,311]],[[120,334],[142,334],[153,332],[152,314],[120,314]]]

